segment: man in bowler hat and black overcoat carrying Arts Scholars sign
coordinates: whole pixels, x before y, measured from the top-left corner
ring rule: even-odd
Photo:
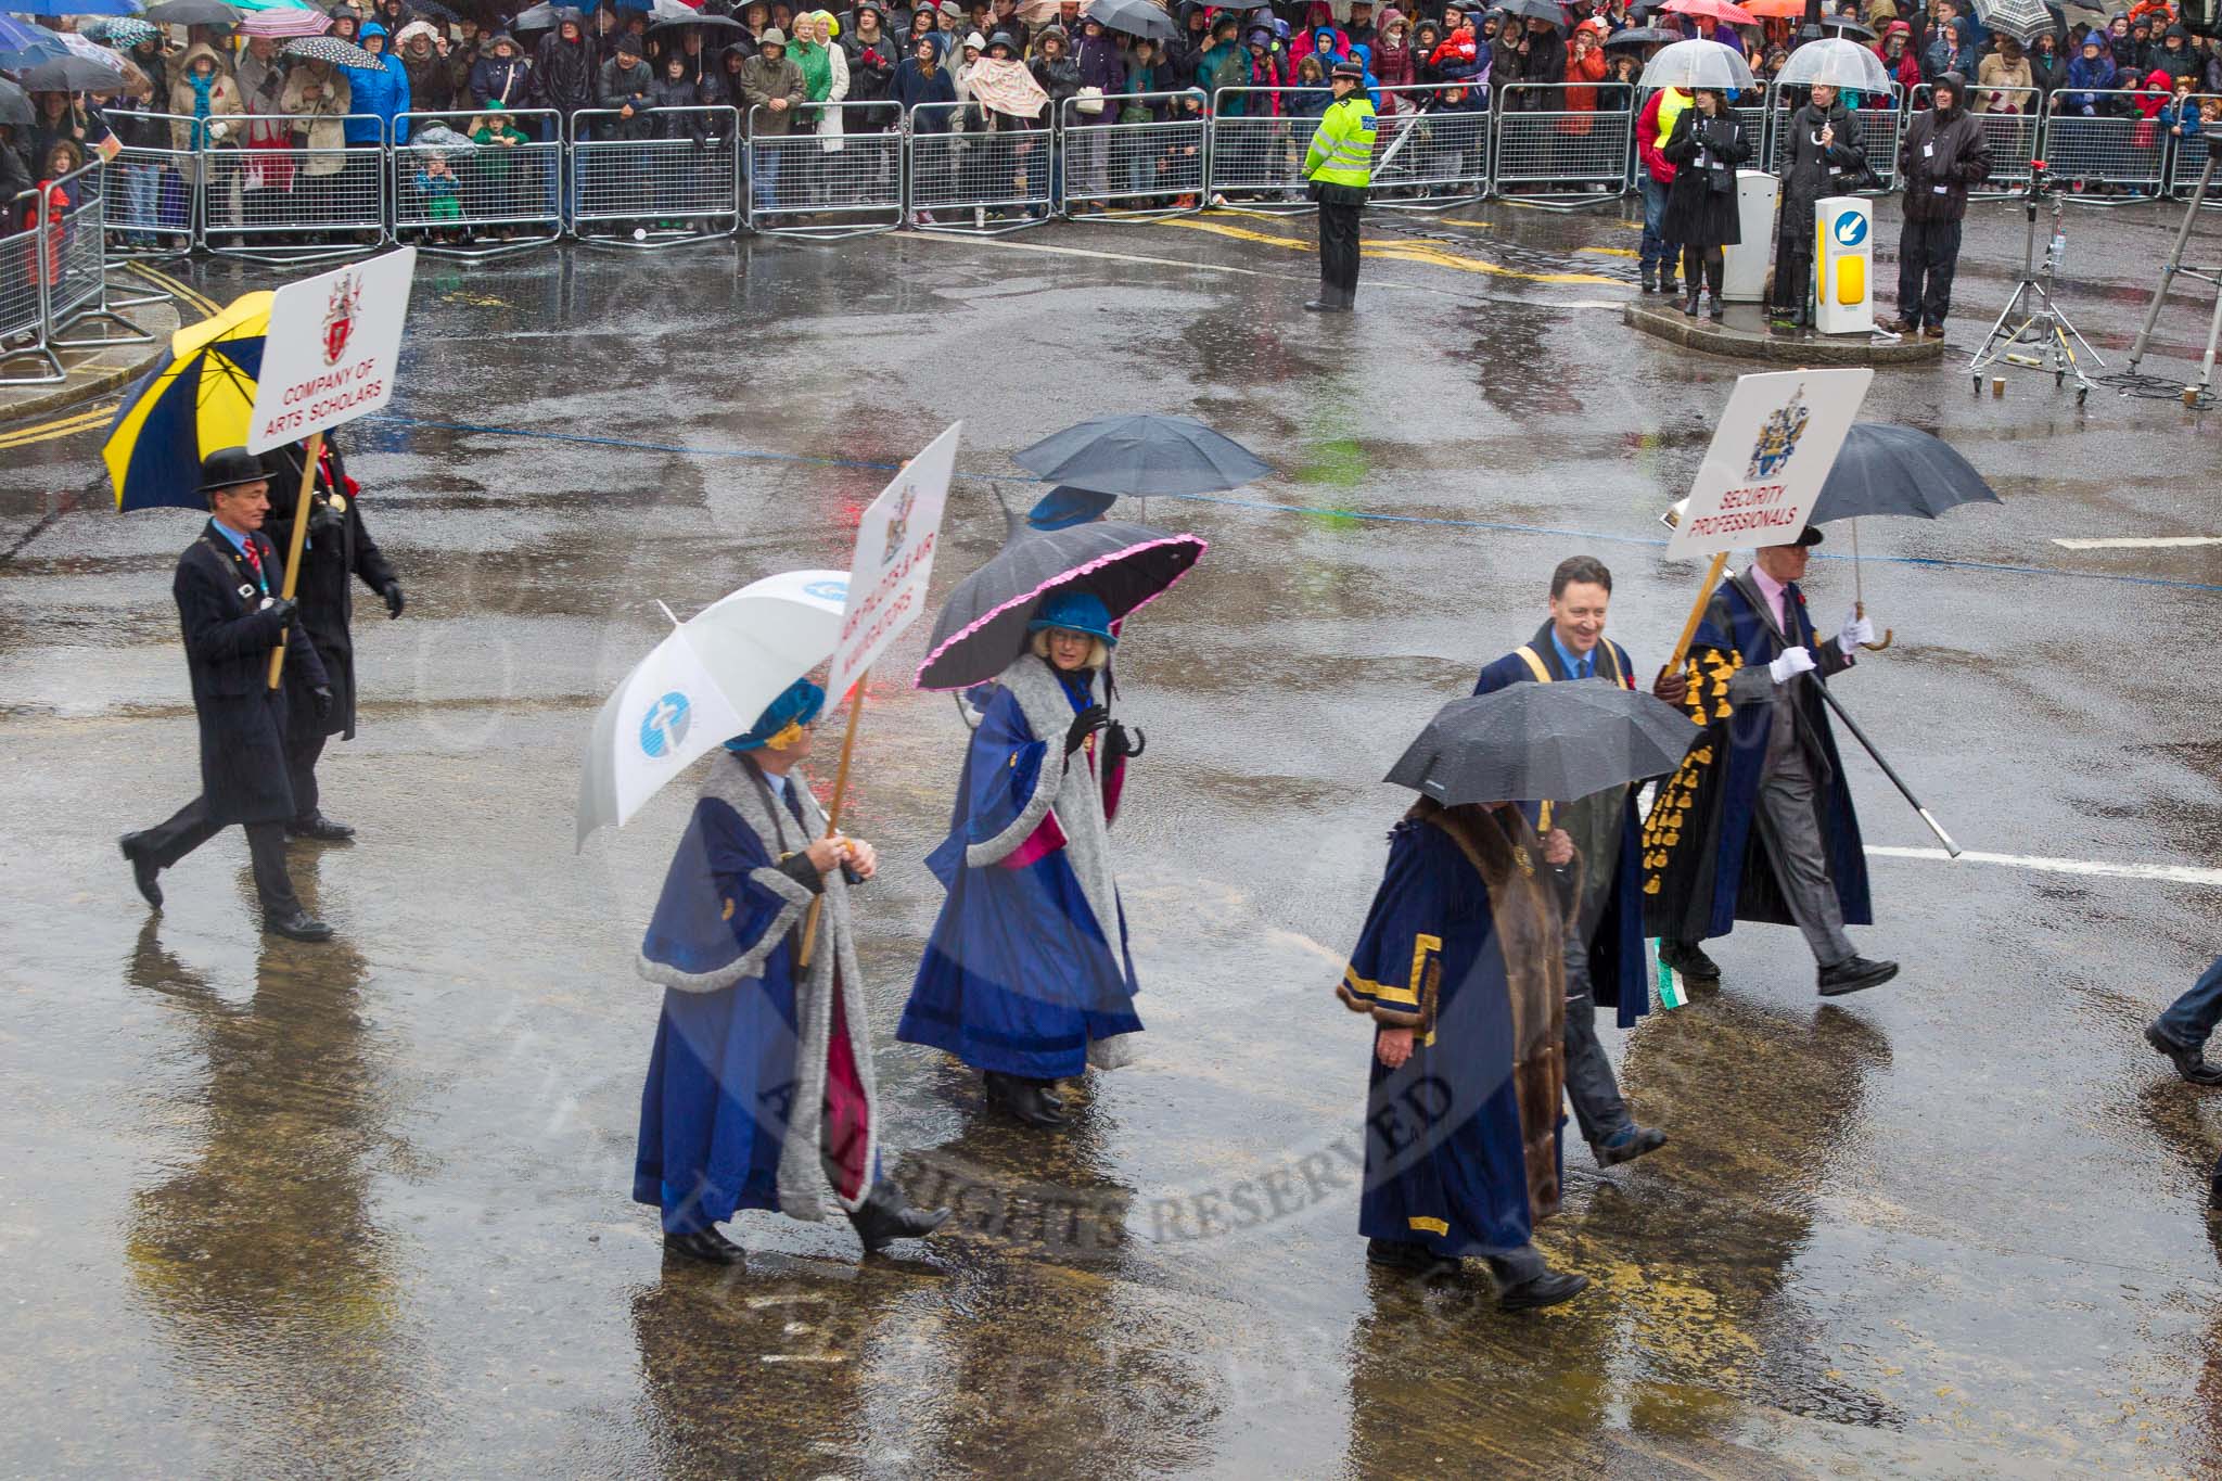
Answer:
[[[284,693],[269,686],[271,648],[309,682],[311,704],[331,706],[324,664],[293,622],[278,548],[260,533],[269,480],[247,449],[218,449],[200,462],[209,526],[184,555],[171,595],[184,631],[200,717],[200,797],[176,817],[122,837],[131,877],[147,904],[162,908],[158,875],[229,824],[247,828],[247,850],[262,897],[262,926],[296,941],[329,941],[331,926],[309,915],[284,873],[284,824],[293,788],[284,764]]]

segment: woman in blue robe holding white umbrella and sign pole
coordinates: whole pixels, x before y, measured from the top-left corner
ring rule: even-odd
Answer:
[[[849,884],[871,879],[871,844],[827,830],[809,782],[824,691],[798,679],[711,757],[640,975],[662,984],[640,1092],[633,1199],[662,1210],[664,1250],[735,1263],[718,1223],[742,1208],[822,1219],[831,1199],[873,1255],[927,1235],[947,1210],[909,1208],[880,1177],[869,1012]],[[815,950],[800,930],[822,899]]]

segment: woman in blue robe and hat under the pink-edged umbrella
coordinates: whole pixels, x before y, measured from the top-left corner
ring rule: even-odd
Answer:
[[[1029,1126],[1062,1126],[1055,1081],[1127,1064],[1133,957],[1111,868],[1127,759],[1095,677],[1118,637],[1089,591],[1044,597],[1029,653],[973,731],[949,837],[927,864],[949,890],[895,1037],[982,1072]]]

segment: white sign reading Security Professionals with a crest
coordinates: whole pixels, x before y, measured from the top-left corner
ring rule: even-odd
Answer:
[[[1669,560],[1798,540],[1871,380],[1869,369],[1740,377],[1666,542]]]

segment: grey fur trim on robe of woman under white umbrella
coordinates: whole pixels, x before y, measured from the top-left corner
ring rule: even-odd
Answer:
[[[755,777],[749,775],[749,766],[729,750],[718,750],[711,759],[709,777],[702,782],[702,795],[715,797],[733,808],[740,815],[742,826],[753,830],[764,844],[764,853],[778,859],[807,848],[827,833],[824,808],[818,806],[818,797],[811,793],[804,775],[800,770],[787,773],[787,786],[798,788],[802,815],[809,819],[809,826],[802,830],[807,837],[802,839],[793,837],[793,815],[784,806],[769,802],[767,788],[760,788]],[[764,961],[773,950],[778,950],[780,941],[800,924],[802,913],[809,908],[809,888],[775,868],[751,870],[749,879],[780,895],[787,904],[780,908],[780,915],[773,917],[771,928],[764,930],[758,944],[740,961],[722,968],[720,973],[707,973],[704,977],[731,975],[731,981],[747,981],[760,975],[764,970]],[[835,868],[824,875],[822,899],[824,908],[818,913],[818,944],[807,973],[800,981],[795,981],[795,1084],[793,1099],[789,1101],[787,1135],[780,1139],[780,1212],[793,1219],[811,1221],[827,1217],[827,1201],[833,1201],[844,1212],[862,1208],[864,1197],[871,1192],[873,1170],[880,1159],[880,1092],[871,1059],[871,1008],[864,1004],[864,973],[858,968],[855,959],[849,879],[842,870]],[[835,968],[840,968],[838,975]],[[684,977],[684,973],[671,973],[671,968],[651,964],[647,957],[642,957],[640,975],[649,981],[662,981],[664,986],[682,990],[709,990],[673,981],[673,977]],[[827,1099],[827,1048],[833,1039],[835,984],[840,984],[840,993],[844,995],[842,1019],[849,1030],[849,1052],[855,1059],[855,1075],[864,1090],[864,1179],[855,1199],[840,1197],[840,1190],[833,1188],[831,1179],[827,1179],[824,1161],[820,1157],[820,1132]]]

